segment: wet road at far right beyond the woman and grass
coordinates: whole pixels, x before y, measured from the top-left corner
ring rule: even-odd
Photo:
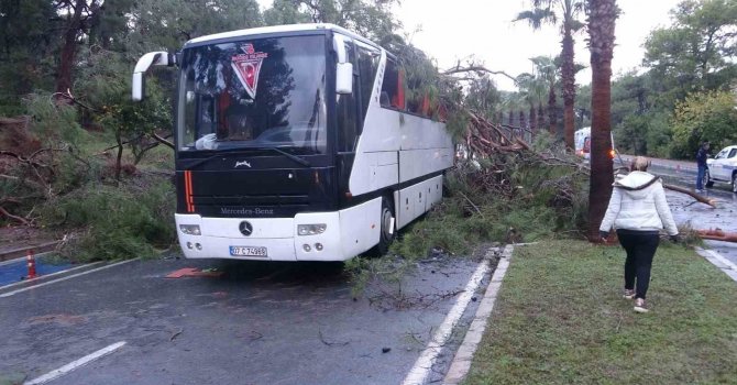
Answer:
[[[693,162],[667,161],[661,163],[660,160],[652,160],[652,165],[648,170],[660,175],[669,184],[695,188],[696,173],[693,166]],[[703,195],[716,199],[717,208],[694,202],[694,199],[688,195],[666,190],[673,219],[679,224],[690,226],[693,229],[718,228],[727,232],[737,232],[737,194],[733,194],[726,184],[715,184]],[[737,244],[705,241],[705,245],[737,264]]]

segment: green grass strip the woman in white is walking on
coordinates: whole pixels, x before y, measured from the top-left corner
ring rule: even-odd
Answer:
[[[661,245],[651,311],[622,298],[620,248],[517,248],[465,384],[735,384],[737,283]]]

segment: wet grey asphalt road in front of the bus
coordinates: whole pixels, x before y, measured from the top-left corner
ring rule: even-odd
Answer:
[[[419,263],[400,282],[369,283],[356,299],[341,263],[133,261],[0,289],[0,384],[120,343],[51,383],[399,384],[477,265]],[[215,276],[165,277],[184,267]],[[431,381],[442,378],[457,343],[443,349]]]

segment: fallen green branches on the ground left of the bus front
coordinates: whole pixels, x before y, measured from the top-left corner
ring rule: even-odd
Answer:
[[[154,248],[175,240],[174,202],[174,187],[165,182],[145,187],[89,184],[48,201],[45,226],[75,233],[63,250],[75,261],[153,256]]]

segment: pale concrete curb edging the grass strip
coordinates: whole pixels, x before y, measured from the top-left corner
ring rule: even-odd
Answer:
[[[520,244],[517,244],[518,246]],[[492,280],[486,287],[486,293],[484,298],[481,300],[479,308],[476,309],[476,315],[471,322],[469,331],[465,333],[463,342],[455,352],[453,362],[450,364],[448,373],[446,373],[446,378],[443,380],[443,385],[457,385],[460,384],[471,370],[471,362],[473,361],[473,354],[479,348],[486,326],[488,324],[488,317],[494,310],[494,302],[496,301],[496,296],[499,293],[502,287],[502,280],[507,274],[507,268],[509,267],[509,260],[512,258],[512,252],[515,250],[515,245],[508,244],[504,248],[502,252],[502,257],[499,263],[496,265]]]

